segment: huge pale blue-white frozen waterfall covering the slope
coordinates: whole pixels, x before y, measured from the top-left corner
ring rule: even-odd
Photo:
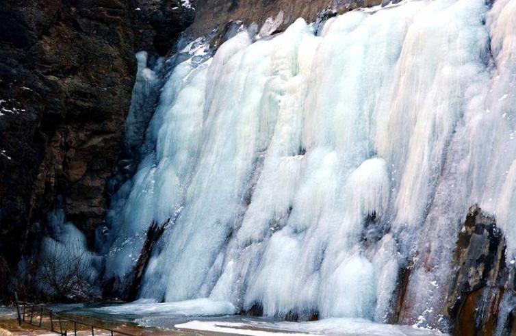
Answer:
[[[179,64],[111,210],[107,276],[172,217],[142,298],[382,322],[419,250],[409,320],[439,311],[469,205],[516,249],[515,20],[516,0],[407,1]]]

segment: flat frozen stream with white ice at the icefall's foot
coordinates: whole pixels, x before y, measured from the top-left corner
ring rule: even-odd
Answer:
[[[237,335],[443,335],[413,326],[379,324],[359,318],[330,318],[313,322],[285,322],[231,315],[230,302],[190,300],[172,303],[132,302],[122,305],[58,305],[56,311],[110,322],[129,322],[166,331],[204,331]]]

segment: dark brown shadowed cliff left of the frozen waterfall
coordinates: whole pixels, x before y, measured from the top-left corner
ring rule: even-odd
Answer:
[[[164,55],[193,18],[180,0],[2,2],[0,280],[37,243],[58,198],[93,240],[120,154],[134,54]]]

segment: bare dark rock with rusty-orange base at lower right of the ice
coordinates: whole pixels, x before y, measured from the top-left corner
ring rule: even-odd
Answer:
[[[497,328],[502,335],[514,335],[514,309],[504,312],[502,306],[504,296],[511,301],[515,296],[514,274],[506,268],[505,249],[495,220],[482,214],[479,207],[469,209],[457,241],[443,312],[454,335],[495,335]]]

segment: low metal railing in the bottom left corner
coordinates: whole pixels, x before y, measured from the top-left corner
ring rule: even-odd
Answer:
[[[114,329],[105,328],[103,326],[96,326],[91,323],[82,322],[73,318],[67,318],[63,315],[55,313],[52,309],[48,309],[44,305],[37,305],[32,302],[25,302],[18,300],[18,294],[14,293],[16,298],[16,314],[18,315],[18,324],[21,326],[23,323],[36,326],[38,328],[52,331],[62,336],[77,335],[77,332],[84,332],[85,330],[77,330],[77,326],[88,327],[86,331],[91,330],[92,336],[95,335],[95,329],[107,331],[110,335],[127,335],[135,336],[133,334],[124,333],[122,331],[116,331]],[[47,320],[48,316],[48,320]],[[38,321],[39,320],[39,321]],[[73,330],[71,327],[73,326]],[[68,330],[70,328],[70,330]]]

